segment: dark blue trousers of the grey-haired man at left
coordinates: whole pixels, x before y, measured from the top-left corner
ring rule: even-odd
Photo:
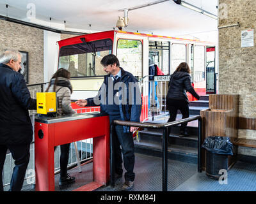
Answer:
[[[12,153],[15,160],[10,191],[20,191],[24,182],[24,177],[29,163],[29,147],[27,145],[0,145],[0,191],[3,191],[3,168],[7,149]]]

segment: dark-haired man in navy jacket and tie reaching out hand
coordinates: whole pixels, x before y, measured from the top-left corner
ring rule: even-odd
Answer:
[[[86,100],[76,101],[79,106],[100,105],[100,112],[109,114],[109,122],[113,120],[125,120],[140,122],[141,114],[141,93],[138,87],[138,80],[134,76],[120,68],[117,57],[113,54],[106,55],[100,61],[104,71],[108,73],[104,77],[104,82],[100,87],[98,95]],[[124,191],[128,191],[134,186],[134,143],[132,131],[135,127],[115,126],[115,172],[116,178],[122,177],[122,154],[124,157],[125,183],[122,186]],[[122,153],[120,149],[122,146]]]

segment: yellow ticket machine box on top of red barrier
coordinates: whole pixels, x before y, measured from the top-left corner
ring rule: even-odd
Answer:
[[[36,108],[38,114],[56,113],[56,92],[37,92]]]

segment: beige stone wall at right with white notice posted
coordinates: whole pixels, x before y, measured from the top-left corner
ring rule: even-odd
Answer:
[[[219,93],[239,94],[239,117],[256,117],[256,1],[220,0]],[[241,31],[254,29],[254,47],[241,47]],[[256,131],[239,129],[239,138],[256,140]]]

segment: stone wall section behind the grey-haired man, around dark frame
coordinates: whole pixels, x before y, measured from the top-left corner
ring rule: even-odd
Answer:
[[[44,31],[0,20],[0,51],[11,48],[28,52],[28,84],[44,82]]]

